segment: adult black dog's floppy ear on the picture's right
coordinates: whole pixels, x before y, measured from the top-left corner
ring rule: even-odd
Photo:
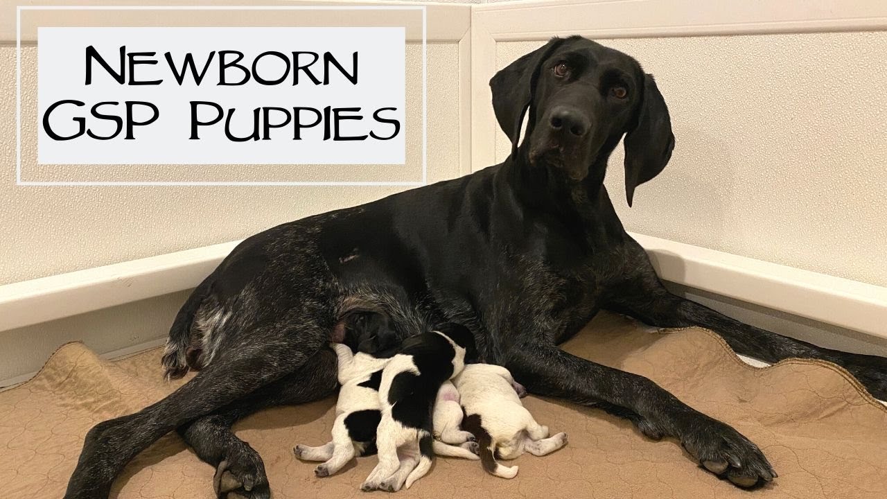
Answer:
[[[638,123],[625,135],[625,197],[632,206],[634,188],[659,175],[671,159],[674,134],[665,99],[653,75],[644,75]]]

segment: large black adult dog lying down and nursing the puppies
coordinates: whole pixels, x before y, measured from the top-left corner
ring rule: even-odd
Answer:
[[[883,358],[781,337],[663,288],[603,186],[623,135],[629,202],[674,146],[662,95],[634,59],[579,37],[553,39],[498,72],[491,87],[514,145],[506,162],[241,243],[194,290],[169,333],[168,373],[190,366],[200,374],[153,406],[90,430],[66,497],[105,498],[125,463],[175,429],[216,465],[220,496],[268,497],[262,460],[230,426],[259,408],[333,393],[326,343],[341,336],[341,317],[353,310],[386,313],[402,336],[464,324],[481,357],[509,368],[530,392],[604,408],[649,437],[678,439],[741,487],[776,473],[739,432],[644,377],[557,345],[603,308],[655,326],[710,328],[761,360],[831,360],[887,398]]]

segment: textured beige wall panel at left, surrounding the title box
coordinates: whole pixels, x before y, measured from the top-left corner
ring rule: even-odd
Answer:
[[[147,179],[420,179],[421,51],[407,48],[407,160],[396,167],[124,167]],[[23,172],[78,179],[82,168],[35,166],[36,48],[22,50]],[[457,44],[428,44],[428,180],[459,175]],[[227,242],[311,213],[368,202],[399,187],[15,186],[15,48],[0,46],[0,284]],[[31,168],[28,167],[30,165]],[[108,178],[108,167],[95,171]],[[236,174],[236,177],[235,177]],[[62,178],[59,178],[59,175]],[[169,178],[169,177],[167,177]],[[164,178],[166,179],[166,178]]]

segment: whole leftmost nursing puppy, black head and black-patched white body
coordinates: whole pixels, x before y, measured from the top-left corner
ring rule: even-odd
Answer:
[[[295,456],[304,461],[326,461],[314,470],[318,477],[341,470],[355,455],[376,452],[376,426],[381,420],[379,383],[382,368],[391,360],[396,345],[388,317],[381,313],[354,313],[341,333],[341,341],[347,345],[332,345],[341,384],[333,440],[320,447],[297,445],[293,449]]]

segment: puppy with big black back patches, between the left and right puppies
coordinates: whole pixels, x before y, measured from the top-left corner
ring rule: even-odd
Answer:
[[[362,490],[409,488],[428,472],[435,452],[443,455],[445,448],[470,454],[465,448],[434,440],[432,411],[441,384],[475,357],[475,338],[458,324],[447,323],[404,340],[400,352],[382,371],[381,422],[376,431],[379,464]]]

